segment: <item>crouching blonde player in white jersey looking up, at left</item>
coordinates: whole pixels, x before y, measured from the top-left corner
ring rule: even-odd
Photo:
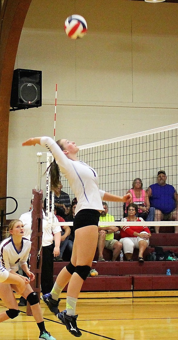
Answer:
[[[13,220],[9,224],[10,237],[3,240],[0,244],[1,262],[2,267],[5,268],[10,274],[17,275],[18,263],[23,271],[27,274],[30,280],[34,280],[35,276],[28,269],[27,259],[31,249],[31,241],[23,237],[23,223],[20,220]],[[2,270],[1,270],[2,272]],[[2,272],[4,275],[4,272]],[[7,273],[5,272],[7,276]],[[7,277],[8,278],[8,277]],[[7,279],[6,278],[6,279]],[[31,306],[32,314],[36,320],[37,326],[40,330],[38,339],[56,340],[45,329],[42,310],[39,305],[37,293],[33,291],[29,284],[28,278],[24,277],[24,280],[28,281],[25,286],[25,290],[22,292],[22,296],[27,299]],[[13,294],[13,290],[19,292],[18,286],[1,282],[0,283],[0,298],[8,310],[0,313],[0,322],[7,319],[14,319],[19,314],[18,305]]]

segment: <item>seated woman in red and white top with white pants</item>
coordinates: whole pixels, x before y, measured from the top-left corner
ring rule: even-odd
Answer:
[[[123,218],[121,221],[135,221],[143,222],[142,217],[137,217],[136,213],[138,207],[134,203],[130,203],[127,206],[128,217]],[[120,226],[120,242],[123,244],[123,251],[127,258],[127,261],[132,261],[133,249],[139,249],[139,262],[144,262],[143,253],[149,245],[149,238],[151,237],[150,230],[147,226],[143,226],[140,223],[135,225]]]

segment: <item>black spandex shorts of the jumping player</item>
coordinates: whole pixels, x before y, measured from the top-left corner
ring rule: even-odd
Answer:
[[[94,209],[82,209],[74,217],[74,230],[87,225],[97,225],[100,218],[100,212]]]

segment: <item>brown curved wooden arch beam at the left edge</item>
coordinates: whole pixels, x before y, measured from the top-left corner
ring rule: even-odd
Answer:
[[[15,58],[31,1],[4,0],[0,13],[0,197],[5,197],[7,190],[9,109]],[[5,200],[1,201],[0,208],[6,211]]]

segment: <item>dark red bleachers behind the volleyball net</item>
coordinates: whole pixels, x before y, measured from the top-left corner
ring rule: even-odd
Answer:
[[[115,236],[119,239],[119,234]],[[97,262],[96,250],[92,268],[98,271],[97,277],[87,277],[81,291],[145,291],[145,290],[178,290],[178,261],[146,261],[146,256],[153,252],[155,246],[162,246],[163,250],[178,253],[178,234],[152,234],[150,244],[144,252],[144,263],[139,263],[138,250],[134,249],[133,262],[112,262],[112,252],[104,249],[105,262]],[[96,261],[96,262],[95,262]],[[68,262],[54,262],[54,280],[60,270]],[[171,276],[166,276],[167,268],[171,269]],[[67,290],[67,286],[63,291]]]

